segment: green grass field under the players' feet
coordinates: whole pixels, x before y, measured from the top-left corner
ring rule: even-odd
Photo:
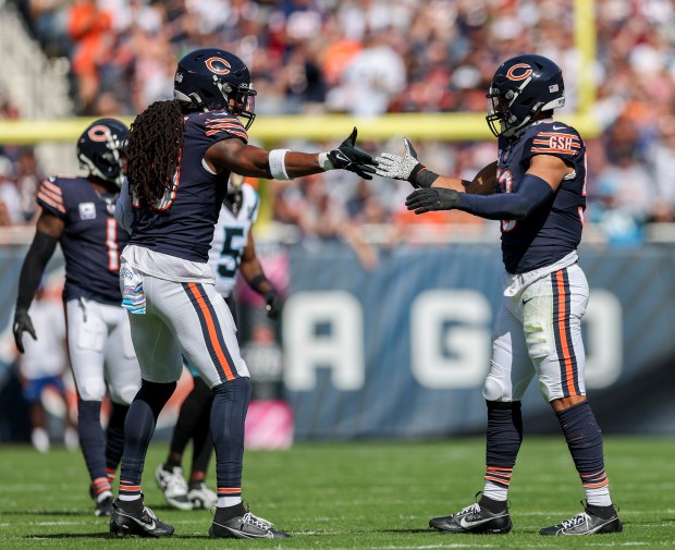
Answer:
[[[540,527],[581,511],[582,491],[561,438],[526,438],[510,492],[514,530],[504,536],[443,535],[429,517],[456,512],[482,488],[482,439],[435,442],[298,443],[289,451],[247,451],[244,498],[251,512],[292,534],[287,540],[212,540],[207,511],[167,508],[154,472],[146,504],[172,525],[169,539],[115,539],[93,515],[78,453],[0,447],[0,548],[618,548],[675,547],[675,440],[606,438],[606,467],[624,533],[550,538]],[[214,475],[211,475],[211,480]]]

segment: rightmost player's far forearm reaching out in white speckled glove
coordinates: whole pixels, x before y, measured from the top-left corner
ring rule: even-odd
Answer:
[[[383,178],[406,180],[413,187],[443,187],[461,193],[489,195],[494,193],[496,184],[496,162],[488,164],[476,174],[472,181],[461,178],[440,175],[429,170],[417,159],[417,151],[407,137],[403,138],[405,155],[403,157],[392,152],[383,152],[376,157],[378,168],[376,173]]]

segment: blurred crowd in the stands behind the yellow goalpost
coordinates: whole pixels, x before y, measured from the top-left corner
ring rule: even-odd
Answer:
[[[484,112],[498,64],[521,52],[555,60],[567,87],[561,119],[578,106],[572,4],[560,0],[14,0],[50,58],[70,60],[74,114],[133,115],[172,96],[176,60],[206,46],[242,57],[256,112]],[[596,0],[594,114],[587,139],[591,224],[614,244],[642,241],[647,222],[675,220],[675,8],[671,0]],[[4,83],[5,87],[8,83]],[[0,78],[0,87],[2,82]],[[16,118],[7,89],[0,118]],[[255,134],[255,125],[253,129]],[[405,135],[406,129],[401,129]],[[289,144],[286,144],[289,145]],[[324,144],[293,144],[319,150]],[[415,143],[431,169],[466,179],[494,142]],[[401,139],[365,143],[402,154]],[[40,178],[27,148],[0,149],[0,224],[30,223]],[[407,183],[329,172],[266,186],[268,219],[307,239],[360,243],[364,227],[397,239],[419,219]],[[462,212],[425,222],[482,223]],[[437,223],[442,222],[442,223]],[[368,235],[366,235],[367,237]],[[364,253],[368,261],[368,253]]]

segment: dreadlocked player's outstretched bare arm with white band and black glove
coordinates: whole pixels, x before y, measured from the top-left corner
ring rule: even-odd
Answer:
[[[370,180],[376,162],[370,155],[356,147],[356,135],[357,130],[354,129],[349,137],[329,152],[267,151],[240,139],[224,139],[212,145],[205,158],[217,172],[231,170],[250,178],[292,180],[342,169]]]

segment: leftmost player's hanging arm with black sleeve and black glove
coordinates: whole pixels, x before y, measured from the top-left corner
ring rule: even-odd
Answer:
[[[37,220],[33,243],[30,243],[30,247],[24,258],[19,279],[19,295],[14,309],[14,322],[12,323],[14,343],[21,353],[24,353],[24,332],[28,332],[28,334],[33,337],[33,340],[37,340],[33,321],[28,315],[28,308],[40,285],[45,267],[53,256],[59,237],[63,233],[64,225],[63,220],[42,210],[42,213],[40,213]]]

